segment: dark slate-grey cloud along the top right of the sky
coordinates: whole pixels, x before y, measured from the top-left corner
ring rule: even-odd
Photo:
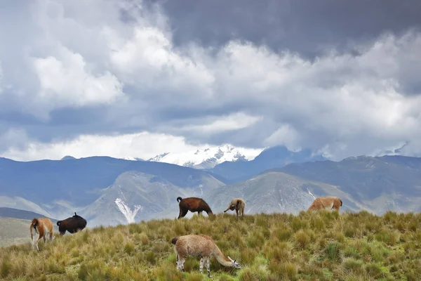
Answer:
[[[289,49],[307,57],[335,47],[352,51],[356,42],[372,40],[384,32],[401,35],[421,27],[421,2],[417,0],[232,0],[162,1],[174,42],[196,41],[203,46],[223,46],[244,39]]]

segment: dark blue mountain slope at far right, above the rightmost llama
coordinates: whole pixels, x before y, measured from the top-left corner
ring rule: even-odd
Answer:
[[[289,164],[274,171],[335,185],[377,214],[387,210],[421,211],[418,157],[349,157],[340,162]]]

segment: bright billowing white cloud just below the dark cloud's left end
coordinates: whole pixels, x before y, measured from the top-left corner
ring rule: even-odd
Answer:
[[[135,27],[133,36],[119,37],[116,30],[103,31],[109,46],[109,60],[116,73],[144,91],[171,91],[171,96],[210,94],[213,74],[199,60],[181,55],[173,48],[168,33],[157,27]]]

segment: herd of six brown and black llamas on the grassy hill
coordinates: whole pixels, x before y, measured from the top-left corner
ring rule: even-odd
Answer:
[[[199,215],[201,215],[202,211],[206,211],[208,216],[215,216],[208,203],[201,198],[188,197],[183,199],[182,197],[177,197],[177,202],[178,207],[180,208],[178,219],[185,217],[188,211],[193,213],[197,212]],[[235,198],[229,202],[228,208],[224,211],[224,213],[228,210],[235,210],[236,220],[238,221],[239,216],[244,218],[245,207],[246,202],[244,202],[242,198]],[[307,211],[316,211],[320,209],[339,211],[340,207],[342,207],[342,200],[338,197],[317,197]],[[58,221],[57,225],[60,235],[64,235],[66,231],[69,233],[77,233],[86,227],[86,219],[77,215],[75,212],[74,216],[66,218],[63,221]],[[35,249],[36,247],[36,250],[39,251],[38,242],[41,239],[44,239],[44,243],[46,243],[47,240],[54,240],[53,223],[51,223],[49,218],[34,218],[29,229],[31,231],[32,249]],[[35,237],[35,234],[38,234],[38,237]],[[222,264],[222,266],[241,268],[241,265],[239,265],[236,260],[222,254],[222,251],[215,244],[215,241],[213,241],[213,239],[208,235],[183,235],[174,237],[171,240],[171,243],[174,244],[174,251],[177,256],[176,266],[180,271],[184,271],[187,256],[200,257],[199,271],[202,273],[203,266],[206,266],[206,270],[208,270],[208,277],[211,277],[209,269],[211,256],[214,256],[215,259]]]

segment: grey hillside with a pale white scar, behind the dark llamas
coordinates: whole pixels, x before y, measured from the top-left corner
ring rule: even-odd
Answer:
[[[79,212],[88,220],[90,227],[160,218],[159,213],[168,207],[177,206],[178,209],[178,196],[201,197],[203,193],[224,185],[214,178],[203,177],[200,182],[199,186],[180,187],[159,176],[127,171],[102,190],[98,200]]]

